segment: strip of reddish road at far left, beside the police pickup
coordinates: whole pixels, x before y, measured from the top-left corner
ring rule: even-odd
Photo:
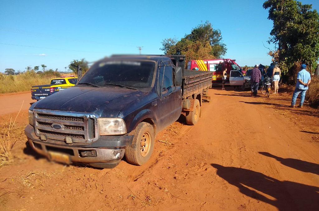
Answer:
[[[36,100],[31,99],[30,91],[1,94],[0,115],[17,112],[20,110],[21,106],[23,110],[28,109],[30,107],[30,103],[33,102],[36,102]]]

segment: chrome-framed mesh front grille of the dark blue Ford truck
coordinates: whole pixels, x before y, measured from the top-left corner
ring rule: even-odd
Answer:
[[[55,111],[34,109],[35,134],[47,135],[48,139],[65,141],[65,137],[71,136],[73,142],[91,143],[98,139],[96,114],[75,113],[68,111]],[[53,125],[58,124],[60,129]]]

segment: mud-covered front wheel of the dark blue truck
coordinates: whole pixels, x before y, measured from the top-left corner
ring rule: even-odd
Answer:
[[[152,155],[154,129],[147,122],[141,122],[135,129],[133,143],[125,148],[125,158],[130,164],[143,165]]]

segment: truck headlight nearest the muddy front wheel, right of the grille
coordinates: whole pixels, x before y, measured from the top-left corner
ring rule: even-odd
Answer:
[[[100,135],[122,135],[126,134],[124,120],[121,118],[99,118]]]

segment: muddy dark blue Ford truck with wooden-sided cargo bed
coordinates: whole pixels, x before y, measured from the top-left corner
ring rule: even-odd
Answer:
[[[112,168],[144,164],[157,133],[186,113],[194,125],[210,100],[212,72],[185,70],[185,56],[112,56],[78,83],[29,109],[31,147],[62,163]]]

